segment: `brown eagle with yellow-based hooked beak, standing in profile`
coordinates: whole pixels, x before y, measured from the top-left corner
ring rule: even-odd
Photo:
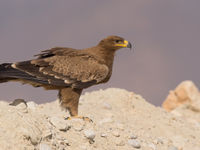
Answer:
[[[19,81],[47,90],[57,89],[61,106],[71,116],[77,116],[82,90],[110,79],[114,54],[123,47],[131,48],[131,44],[121,37],[109,36],[87,49],[45,50],[33,60],[1,64],[0,83]]]

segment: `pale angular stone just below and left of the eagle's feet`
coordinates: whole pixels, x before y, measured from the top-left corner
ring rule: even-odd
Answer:
[[[51,117],[49,121],[60,131],[67,131],[70,128],[68,125],[67,120],[62,120],[57,117]]]

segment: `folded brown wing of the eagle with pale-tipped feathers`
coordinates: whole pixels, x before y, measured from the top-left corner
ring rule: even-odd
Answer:
[[[82,89],[100,83],[109,72],[106,65],[80,50],[54,48],[37,56],[38,59],[16,63],[15,67],[52,85]]]

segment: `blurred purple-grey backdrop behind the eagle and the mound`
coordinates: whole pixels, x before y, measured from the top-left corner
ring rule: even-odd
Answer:
[[[130,41],[117,52],[109,87],[141,94],[160,105],[183,80],[200,87],[198,0],[0,0],[0,63],[32,59],[55,46],[87,48],[108,35]],[[0,99],[53,101],[57,91],[0,84]]]

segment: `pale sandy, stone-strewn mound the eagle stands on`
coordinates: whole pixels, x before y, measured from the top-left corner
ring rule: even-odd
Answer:
[[[65,120],[58,100],[0,101],[0,150],[200,150],[199,118],[180,114],[115,88],[81,96],[79,115],[93,122]]]

